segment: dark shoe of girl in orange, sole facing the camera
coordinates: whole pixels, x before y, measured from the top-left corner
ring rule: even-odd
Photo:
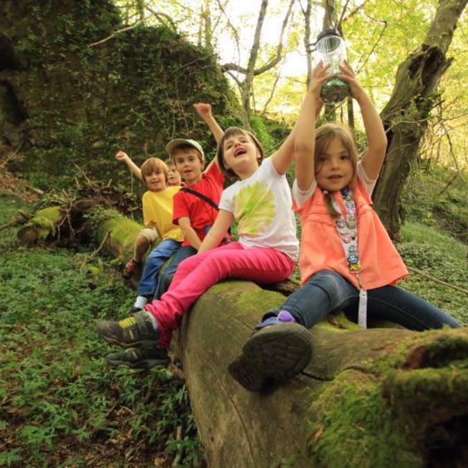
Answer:
[[[272,382],[300,374],[311,356],[309,330],[297,323],[277,320],[255,332],[227,370],[246,390],[261,392]]]

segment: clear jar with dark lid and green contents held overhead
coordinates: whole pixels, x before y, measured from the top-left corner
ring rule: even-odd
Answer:
[[[346,57],[346,44],[343,37],[333,28],[324,29],[315,42],[316,61],[322,60],[324,65],[330,65],[328,72],[332,75],[340,73],[340,65]],[[322,85],[320,97],[326,104],[340,103],[351,94],[349,85],[340,78],[334,77]]]

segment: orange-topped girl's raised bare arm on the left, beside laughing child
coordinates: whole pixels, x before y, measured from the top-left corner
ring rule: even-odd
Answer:
[[[311,84],[302,103],[299,119],[295,126],[294,156],[296,162],[297,187],[307,191],[315,180],[314,150],[315,150],[315,120],[317,110],[320,111],[320,90],[322,84],[331,78],[328,67],[320,62],[313,69]]]

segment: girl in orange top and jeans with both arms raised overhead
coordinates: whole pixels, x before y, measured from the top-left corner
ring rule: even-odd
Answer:
[[[326,123],[315,132],[322,83],[331,78],[319,64],[295,135],[293,200],[302,224],[302,287],[263,316],[243,354],[229,365],[234,379],[252,392],[306,367],[311,346],[301,331],[331,311],[358,315],[362,327],[367,315],[413,330],[460,327],[447,313],[395,286],[408,272],[370,199],[385,157],[385,131],[349,64],[340,69],[361,107],[367,154],[357,162],[352,133],[343,125]]]

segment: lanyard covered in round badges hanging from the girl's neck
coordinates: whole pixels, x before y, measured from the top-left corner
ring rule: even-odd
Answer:
[[[349,272],[356,277],[359,285],[359,309],[358,309],[358,324],[360,327],[367,328],[367,291],[361,285],[359,271],[361,263],[358,254],[358,219],[356,213],[356,203],[353,200],[352,192],[349,187],[341,189],[343,202],[345,203],[346,218],[341,213],[336,200],[331,196],[333,208],[340,213],[340,217],[335,221],[336,230],[340,236],[341,245],[345,251],[346,261],[348,263]]]

